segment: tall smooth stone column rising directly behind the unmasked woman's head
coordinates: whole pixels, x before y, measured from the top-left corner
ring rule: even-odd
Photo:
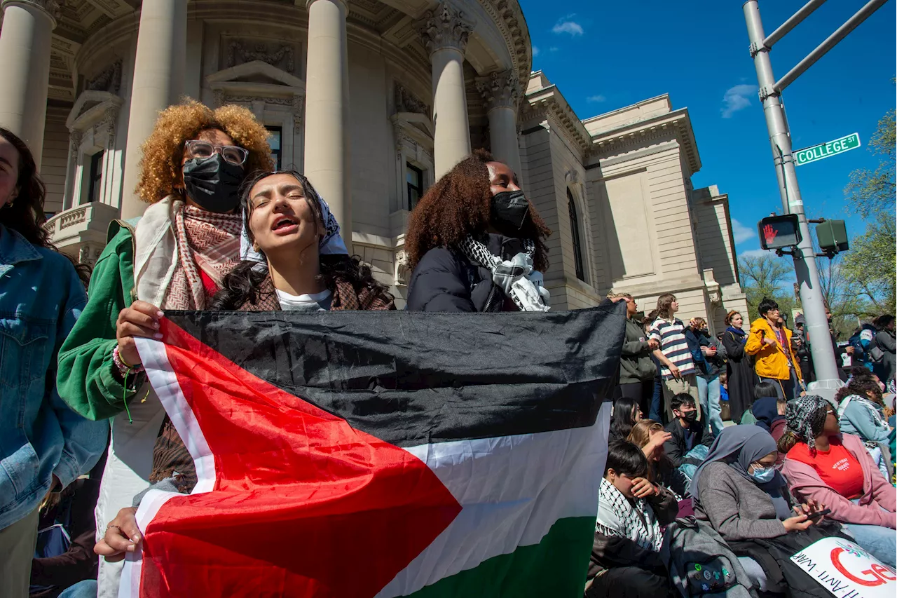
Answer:
[[[318,189],[352,252],[349,185],[349,59],[344,0],[308,0],[305,82],[305,176]]]

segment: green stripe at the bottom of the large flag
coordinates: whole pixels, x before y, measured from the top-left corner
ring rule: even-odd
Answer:
[[[594,537],[594,515],[560,519],[538,544],[489,558],[477,567],[440,579],[408,598],[581,598]]]

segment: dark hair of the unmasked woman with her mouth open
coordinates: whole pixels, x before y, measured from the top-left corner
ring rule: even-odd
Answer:
[[[254,242],[252,231],[249,229],[249,216],[252,215],[252,202],[249,201],[249,192],[256,183],[266,179],[274,174],[289,174],[295,177],[302,185],[302,195],[311,209],[311,213],[315,215],[316,223],[323,223],[323,212],[318,202],[318,191],[311,186],[311,182],[305,178],[300,172],[293,170],[285,171],[256,171],[243,182],[240,191],[240,204],[242,207],[243,227],[249,237],[249,242]],[[317,224],[316,224],[317,226]],[[259,250],[262,255],[264,253]],[[389,293],[387,287],[379,283],[370,268],[361,263],[361,258],[357,255],[321,255],[320,274],[318,281],[333,292],[336,290],[336,280],[345,280],[349,282],[356,292],[362,289],[383,297],[384,300],[392,301],[393,296]],[[243,260],[224,277],[222,288],[213,297],[209,306],[210,310],[231,311],[239,310],[246,303],[256,303],[260,297],[262,283],[268,276],[267,268],[254,268],[257,262]]]

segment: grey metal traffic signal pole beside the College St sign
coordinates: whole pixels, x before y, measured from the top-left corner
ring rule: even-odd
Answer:
[[[806,318],[807,336],[811,340],[810,349],[813,354],[814,370],[817,378],[817,391],[823,391],[827,398],[833,396],[834,389],[840,386],[838,366],[835,363],[835,355],[832,343],[829,342],[829,324],[825,317],[822,286],[819,283],[819,272],[816,270],[815,251],[813,239],[810,236],[810,227],[806,223],[804,214],[804,202],[800,197],[800,188],[797,186],[794,156],[791,154],[791,135],[788,130],[788,121],[785,118],[785,109],[779,98],[782,90],[788,84],[797,79],[816,60],[833,48],[850,31],[853,31],[859,23],[874,13],[887,0],[871,0],[854,14],[847,22],[824,40],[818,48],[815,48],[806,58],[800,61],[794,68],[788,71],[779,82],[772,75],[770,62],[770,49],[772,45],[781,40],[788,31],[803,21],[825,0],[810,0],[803,8],[795,13],[779,29],[773,31],[770,37],[763,33],[763,24],[760,20],[760,8],[757,0],[748,0],[744,4],[745,22],[747,33],[751,41],[751,57],[753,66],[757,70],[757,81],[760,84],[760,99],[763,105],[763,113],[766,116],[766,127],[769,129],[770,144],[772,146],[773,162],[776,165],[776,176],[779,179],[779,193],[781,194],[782,207],[785,214],[796,214],[800,224],[800,233],[803,240],[792,253],[794,268],[797,274],[797,283],[800,285],[800,303],[803,305]],[[826,392],[829,391],[829,392]]]

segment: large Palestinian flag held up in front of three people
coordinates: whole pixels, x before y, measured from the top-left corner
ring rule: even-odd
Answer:
[[[623,304],[167,312],[137,347],[196,461],[119,596],[579,598]]]

